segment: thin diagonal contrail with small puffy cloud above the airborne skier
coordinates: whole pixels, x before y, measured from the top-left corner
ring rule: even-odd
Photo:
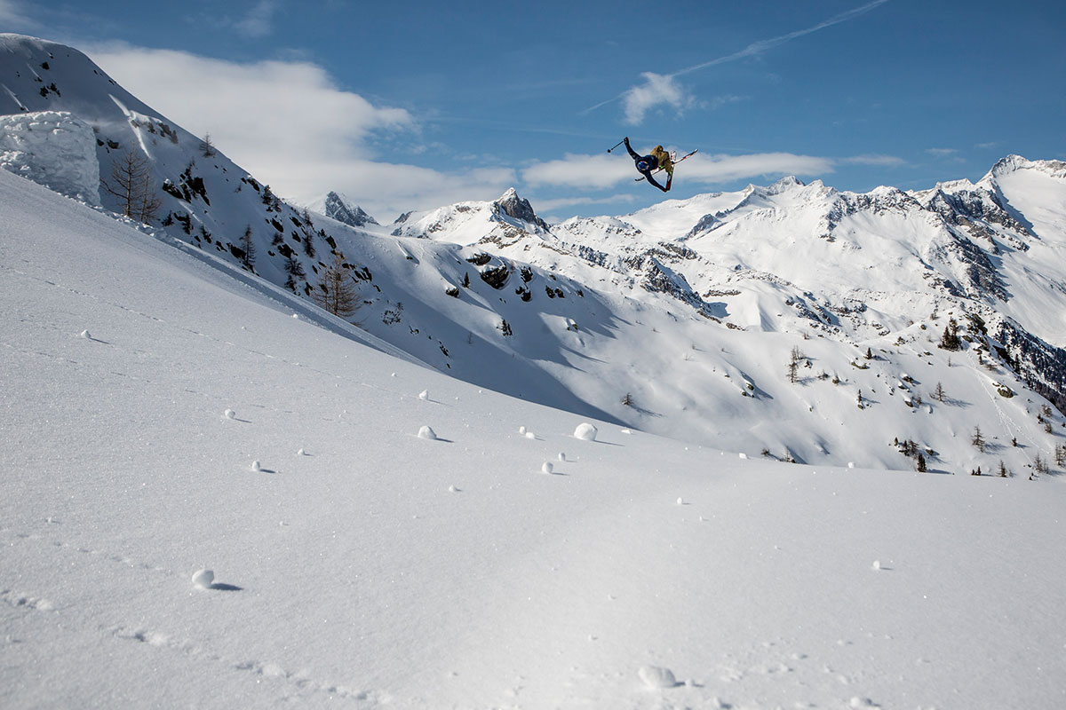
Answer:
[[[725,56],[718,56],[713,60],[708,60],[707,62],[700,62],[699,64],[694,64],[690,67],[683,69],[678,69],[673,73],[668,75],[657,75],[653,72],[644,72],[641,75],[644,80],[643,83],[631,86],[618,96],[608,99],[607,101],[601,101],[596,105],[589,106],[581,112],[582,115],[588,114],[601,106],[604,106],[614,101],[621,100],[625,105],[625,116],[626,122],[630,125],[639,125],[644,120],[644,116],[647,111],[660,103],[665,102],[675,109],[683,109],[692,105],[695,102],[694,97],[692,97],[687,89],[677,81],[678,77],[682,77],[694,71],[699,71],[700,69],[707,69],[708,67],[717,66],[720,64],[726,64],[728,62],[736,62],[748,56],[757,56],[762,54],[775,47],[779,47],[788,42],[803,37],[805,35],[830,28],[835,24],[840,24],[841,22],[846,22],[853,20],[866,13],[885,4],[889,0],[872,0],[871,2],[860,5],[853,10],[835,15],[826,20],[813,24],[802,30],[795,30],[794,32],[789,32],[787,34],[779,35],[777,37],[770,37],[769,39],[760,39],[758,42],[753,42],[744,49],[733,52],[731,54],[726,54]],[[658,100],[657,100],[658,99]]]

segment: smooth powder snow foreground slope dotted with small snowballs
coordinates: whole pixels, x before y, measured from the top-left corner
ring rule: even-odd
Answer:
[[[1062,481],[586,441],[288,298],[0,171],[0,706],[1066,705]]]

